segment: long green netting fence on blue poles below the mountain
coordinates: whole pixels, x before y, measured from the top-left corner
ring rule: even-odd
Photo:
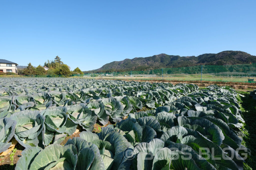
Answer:
[[[77,76],[77,75],[76,75]],[[113,79],[163,79],[163,80],[200,80],[200,81],[223,81],[223,82],[249,82],[256,80],[256,63],[237,64],[231,66],[193,66],[183,68],[161,68],[145,71],[126,71],[109,73],[87,73],[83,77],[102,77]]]

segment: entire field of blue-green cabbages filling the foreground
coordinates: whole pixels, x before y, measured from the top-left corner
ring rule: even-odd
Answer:
[[[20,170],[243,169],[250,150],[237,95],[217,85],[5,78],[0,153],[15,138]],[[109,125],[92,133],[96,123]]]

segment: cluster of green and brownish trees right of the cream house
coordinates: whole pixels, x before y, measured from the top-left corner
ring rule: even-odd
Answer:
[[[48,70],[45,70],[44,67],[48,67]],[[36,68],[32,66],[31,63],[28,63],[28,66],[25,69],[18,69],[19,75],[49,75],[51,77],[55,75],[65,75],[70,76],[72,74],[83,74],[83,72],[77,67],[73,71],[70,71],[70,67],[67,64],[64,64],[61,61],[59,56],[56,56],[54,60],[47,61],[44,63],[44,66],[37,66]]]

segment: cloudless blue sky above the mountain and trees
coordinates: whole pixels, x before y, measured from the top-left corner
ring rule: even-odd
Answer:
[[[0,1],[0,59],[59,56],[82,71],[125,58],[224,50],[256,55],[255,0]]]

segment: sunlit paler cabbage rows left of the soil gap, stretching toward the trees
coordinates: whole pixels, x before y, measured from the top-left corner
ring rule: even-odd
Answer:
[[[51,143],[61,143],[77,126],[92,131],[97,120],[102,125],[109,121],[120,122],[143,106],[156,108],[159,103],[171,102],[198,89],[189,84],[81,79],[80,85],[75,79],[75,84],[71,85],[64,82],[67,79],[51,79],[58,82],[51,84],[44,78],[26,84],[24,81],[30,79],[17,80],[15,86],[8,83],[12,79],[6,79],[1,85],[0,121],[1,132],[5,135],[0,140],[0,153],[10,146],[8,142],[13,136],[25,148],[45,148]]]

